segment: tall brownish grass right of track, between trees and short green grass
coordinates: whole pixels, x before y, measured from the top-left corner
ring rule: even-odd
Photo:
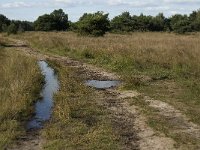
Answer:
[[[179,75],[198,74],[199,37],[200,34],[133,33],[92,38],[65,32],[30,32],[21,36],[41,51],[92,59],[119,72],[135,70],[151,75],[157,75],[157,69]]]

